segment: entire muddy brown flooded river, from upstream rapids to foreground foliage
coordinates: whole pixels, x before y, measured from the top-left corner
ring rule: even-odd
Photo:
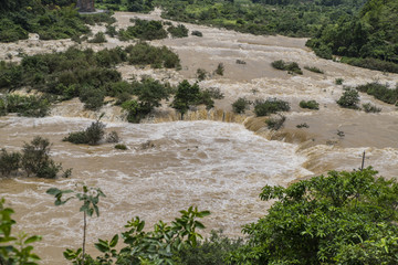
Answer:
[[[159,13],[121,12],[115,17],[116,25],[125,28],[133,17],[159,19]],[[154,124],[132,125],[122,123],[121,109],[106,106],[102,109],[106,129],[121,135],[128,147],[125,151],[116,150],[111,144],[90,147],[62,141],[69,132],[86,128],[100,115],[84,110],[77,99],[57,105],[48,118],[0,118],[0,147],[20,150],[23,142],[34,136],[46,137],[53,142],[53,159],[64,168],[73,168],[70,179],[20,176],[0,181],[1,197],[17,211],[18,230],[43,235],[35,247],[43,264],[65,264],[62,251],[76,248],[81,243],[78,203],[55,208],[53,199],[45,194],[51,187],[72,189],[84,182],[101,188],[107,195],[100,204],[101,216],[90,220],[88,241],[93,243],[98,237],[109,239],[123,231],[123,225],[135,215],[154,224],[159,219],[172,220],[179,210],[189,205],[212,212],[203,221],[208,226],[206,233],[210,229],[223,229],[226,234],[239,236],[241,225],[255,221],[270,206],[258,198],[263,186],[286,186],[332,169],[356,169],[363,151],[366,151],[366,166],[374,166],[388,178],[398,176],[396,107],[362,94],[362,103],[371,102],[383,108],[381,113],[342,109],[336,99],[343,86],[335,85],[336,78],[343,78],[344,85],[380,82],[394,87],[398,75],[318,59],[304,46],[305,39],[253,36],[200,25],[187,26],[201,31],[203,38],[151,42],[176,51],[181,59],[181,71],[130,65],[119,65],[118,71],[125,80],[149,74],[177,84],[184,78],[195,82],[197,68],[205,68],[210,76],[199,85],[220,88],[224,94],[223,99],[216,100],[220,112],[200,110],[187,115],[188,120],[171,121],[178,117],[165,104],[150,119]],[[94,28],[94,32],[101,30],[104,31],[104,26]],[[10,60],[8,54],[11,54],[11,60],[18,61],[21,52],[63,51],[72,44],[69,40],[33,38],[1,44],[0,59]],[[128,44],[108,39],[105,44],[84,43],[81,47],[100,50]],[[237,64],[237,60],[247,64]],[[271,62],[275,60],[296,61],[301,67],[316,66],[325,74],[304,71],[303,76],[292,76],[273,70]],[[220,62],[226,66],[224,75],[213,75]],[[284,128],[271,132],[263,118],[245,119],[228,114],[231,103],[239,97],[250,100],[279,97],[291,103],[292,112],[284,114],[287,118]],[[301,109],[298,102],[302,99],[316,99],[321,109]],[[310,128],[296,128],[303,123]],[[344,131],[344,136],[338,136],[338,130]]]

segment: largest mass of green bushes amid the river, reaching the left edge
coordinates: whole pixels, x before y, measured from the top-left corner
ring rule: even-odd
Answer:
[[[30,86],[56,95],[57,99],[80,97],[86,108],[96,110],[102,107],[105,96],[118,97],[122,99],[119,104],[129,99],[132,85],[122,82],[121,73],[113,68],[122,62],[150,64],[153,67],[179,67],[180,61],[166,46],[155,47],[144,42],[124,50],[105,49],[97,53],[91,49],[80,51],[70,47],[63,53],[25,56],[20,65],[1,62],[0,88]],[[18,112],[24,116],[44,116],[50,106],[49,97],[7,98],[0,98],[1,115]]]

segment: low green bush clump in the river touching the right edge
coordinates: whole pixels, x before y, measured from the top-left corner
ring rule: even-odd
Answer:
[[[366,94],[371,95],[384,103],[397,104],[398,102],[398,87],[389,88],[388,85],[381,85],[374,82],[359,85],[356,87],[356,89],[359,92],[365,92]]]

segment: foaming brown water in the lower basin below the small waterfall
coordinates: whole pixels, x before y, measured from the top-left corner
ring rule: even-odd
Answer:
[[[45,194],[51,187],[78,182],[101,188],[101,218],[90,220],[90,239],[108,239],[135,215],[154,223],[170,221],[189,205],[210,210],[205,224],[238,235],[241,225],[264,214],[258,194],[265,184],[286,184],[311,172],[302,167],[296,146],[269,141],[242,125],[176,121],[151,125],[108,124],[128,150],[113,145],[74,146],[61,141],[69,131],[85,128],[88,119],[50,117],[2,118],[0,145],[19,149],[43,136],[52,142],[54,160],[73,167],[71,179],[2,180],[0,193],[15,209],[20,229],[43,235],[38,247],[45,264],[55,264],[62,250],[77,247],[82,214],[78,203],[55,208]],[[148,144],[148,141],[150,141]],[[94,240],[93,239],[93,240]]]

